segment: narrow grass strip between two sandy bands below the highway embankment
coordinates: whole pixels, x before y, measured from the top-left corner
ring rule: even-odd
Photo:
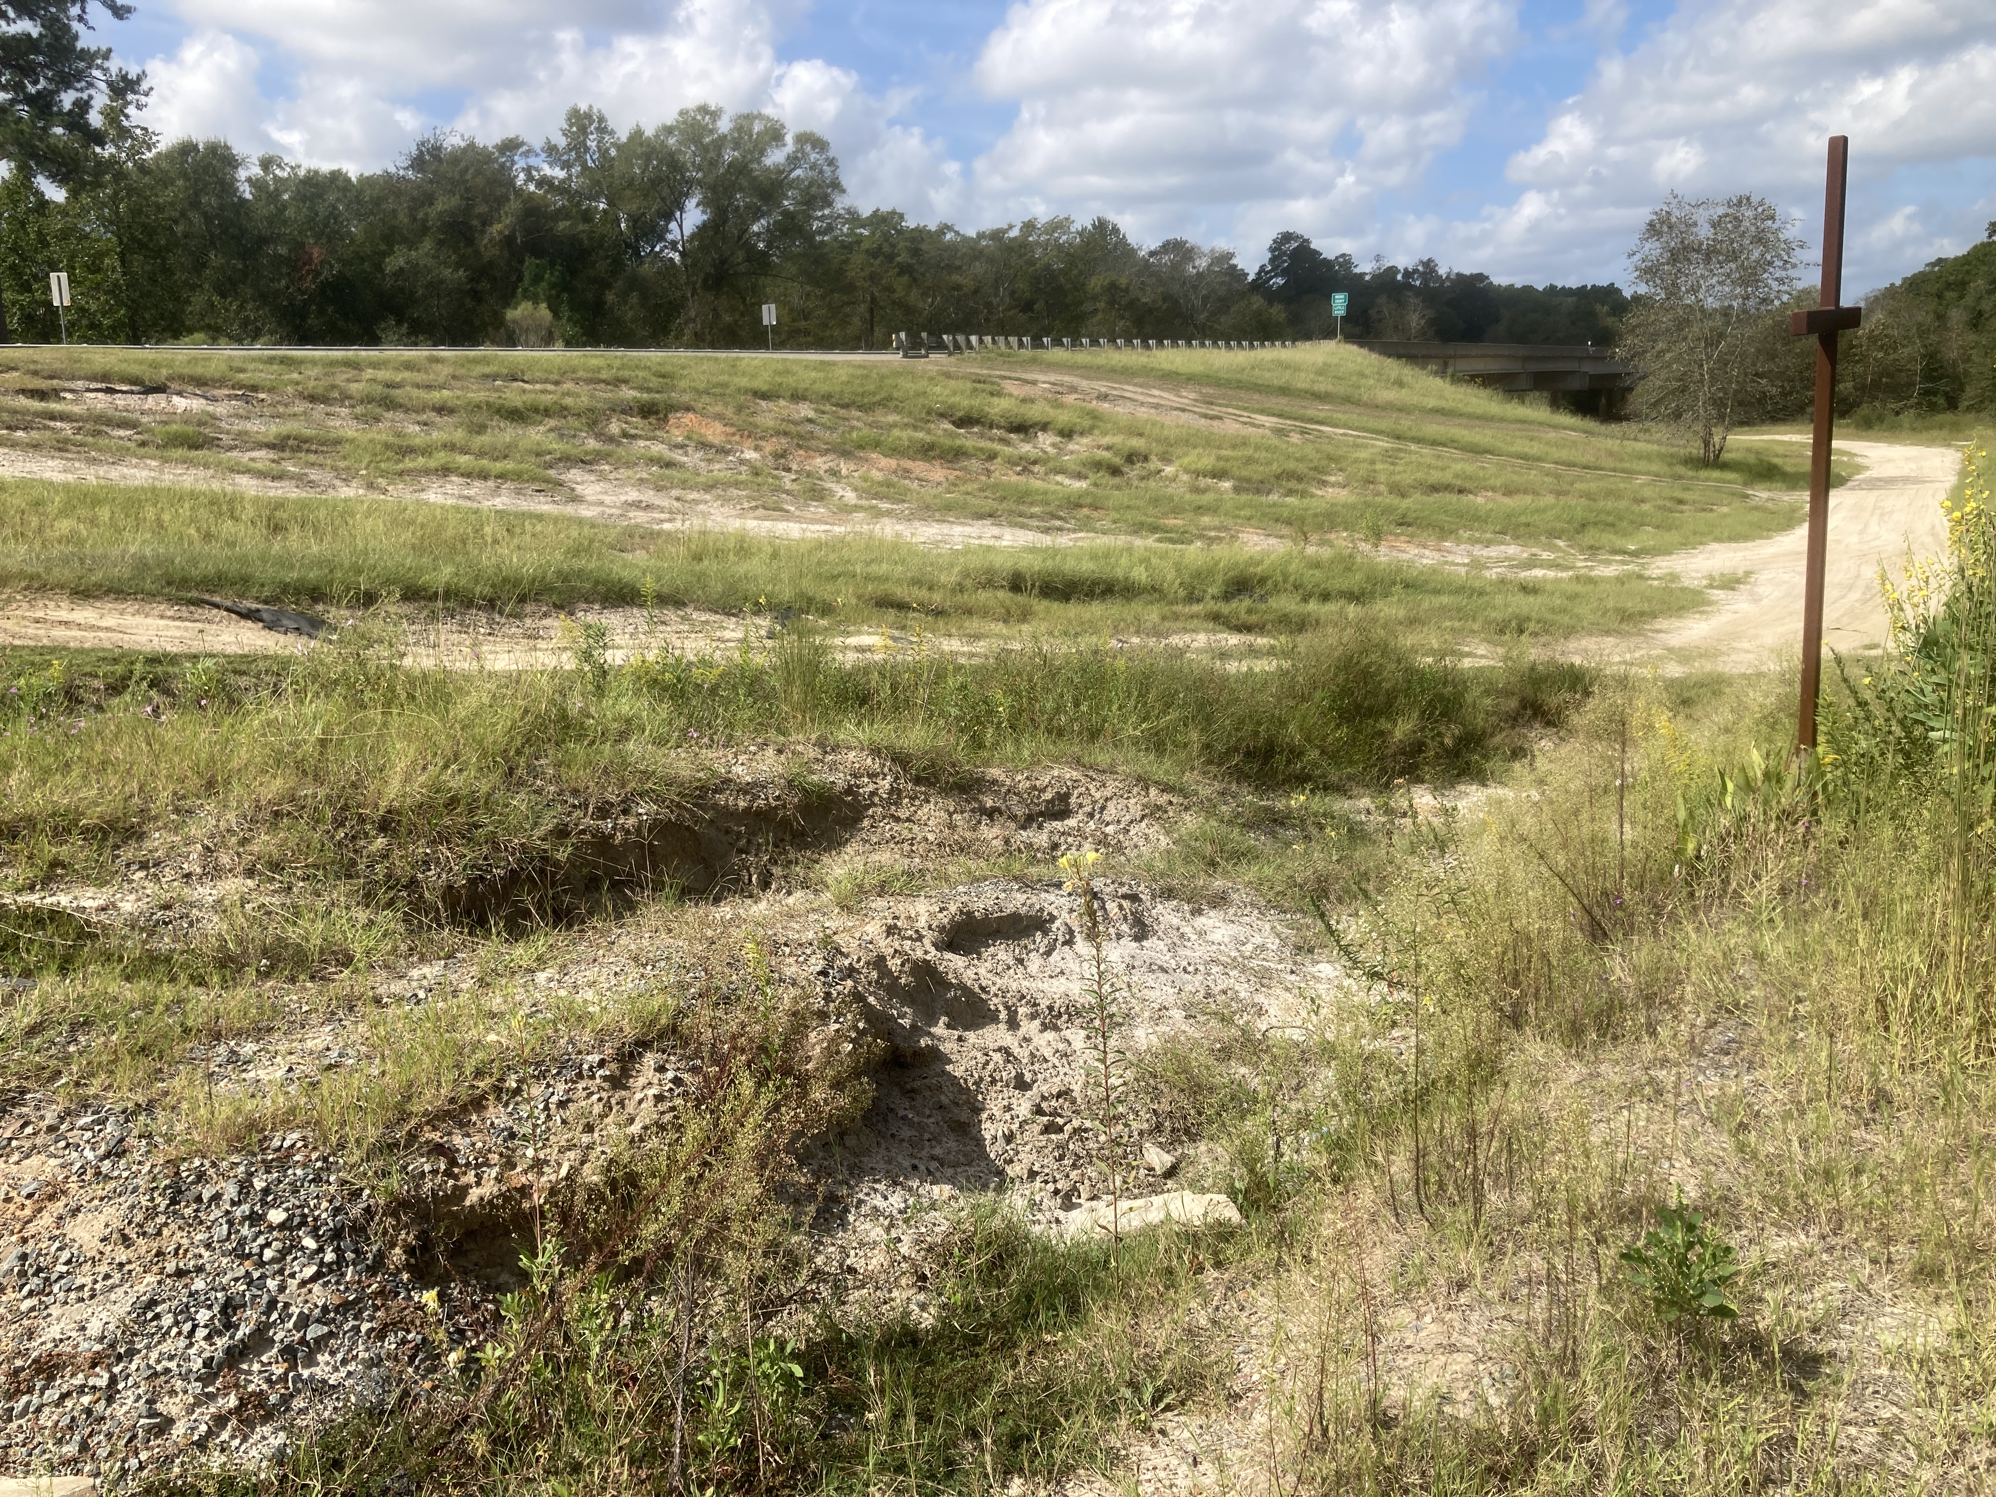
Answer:
[[[1639,575],[1509,579],[1349,549],[934,551],[862,535],[774,541],[397,499],[94,483],[0,485],[0,589],[501,611],[657,601],[1062,633],[1202,623],[1301,633],[1363,613],[1433,643],[1625,629],[1705,599]]]

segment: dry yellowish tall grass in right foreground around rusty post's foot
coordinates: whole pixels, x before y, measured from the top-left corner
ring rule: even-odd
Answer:
[[[1525,794],[1475,818],[1409,800],[1383,898],[1327,912],[1377,1018],[1315,1040],[1337,1086],[1287,1088],[1289,1146],[1313,1154],[1291,1200],[1321,1228],[1289,1279],[1271,1487],[1984,1485],[1984,463],[1820,760],[1790,760],[1786,701],[1750,687],[1701,719],[1669,687],[1605,683]],[[1255,1096],[1176,1094],[1208,1132],[1259,1116]],[[1617,1261],[1679,1202],[1748,1263],[1733,1325],[1667,1323]],[[1816,1311],[1848,1273],[1876,1307]],[[1381,1371],[1387,1275],[1417,1315],[1449,1315],[1463,1283],[1509,1307],[1481,1339],[1485,1397]]]

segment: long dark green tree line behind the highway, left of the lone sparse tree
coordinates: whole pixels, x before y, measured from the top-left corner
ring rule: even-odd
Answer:
[[[1347,337],[1609,343],[1613,285],[1499,285],[1325,255],[1281,234],[1253,271],[1232,250],[1140,246],[1108,218],[988,230],[846,202],[830,146],[766,114],[681,110],[615,130],[573,108],[559,138],[433,134],[385,172],[255,162],[222,140],[162,144],[142,94],[104,100],[52,172],[0,184],[0,313],[54,341],[118,343],[762,341],[884,347],[896,331],[1070,337]]]

